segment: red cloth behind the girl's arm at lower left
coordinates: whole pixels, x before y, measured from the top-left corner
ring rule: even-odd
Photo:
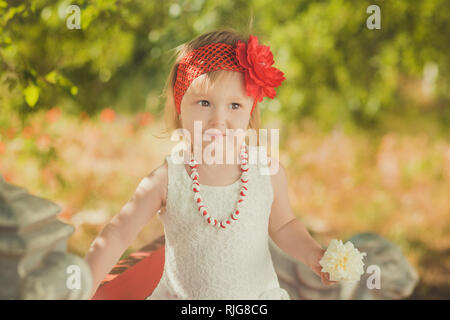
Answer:
[[[130,258],[142,260],[120,274],[109,274],[92,300],[144,300],[155,290],[164,270],[164,245],[152,252],[132,253]],[[116,267],[126,268],[127,260]]]

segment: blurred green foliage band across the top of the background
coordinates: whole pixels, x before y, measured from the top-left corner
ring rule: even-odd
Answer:
[[[0,124],[10,112],[54,105],[157,113],[172,49],[220,27],[271,46],[287,81],[262,107],[293,124],[450,121],[447,0],[77,1],[80,29],[66,26],[71,4],[0,0]],[[371,4],[381,9],[380,30],[366,27]]]

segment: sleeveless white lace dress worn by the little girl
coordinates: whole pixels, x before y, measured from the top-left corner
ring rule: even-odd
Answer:
[[[239,220],[226,229],[200,215],[184,164],[168,164],[166,207],[159,213],[165,232],[165,265],[146,300],[288,300],[280,288],[269,251],[268,223],[273,201],[270,175],[249,164],[248,194]],[[200,185],[214,217],[228,218],[239,200],[240,179],[227,186]],[[218,220],[219,220],[218,219]]]

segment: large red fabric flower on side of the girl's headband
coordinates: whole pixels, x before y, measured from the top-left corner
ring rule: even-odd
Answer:
[[[281,85],[284,73],[272,67],[273,55],[269,46],[258,44],[258,38],[250,35],[248,43],[238,41],[236,57],[245,68],[245,86],[247,95],[255,98],[255,103],[267,96],[276,96],[275,87]]]

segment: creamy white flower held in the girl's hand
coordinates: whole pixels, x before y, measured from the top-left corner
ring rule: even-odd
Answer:
[[[331,240],[325,254],[319,261],[322,272],[330,274],[331,281],[359,281],[364,273],[363,257],[365,252],[359,252],[353,243],[341,240]]]

